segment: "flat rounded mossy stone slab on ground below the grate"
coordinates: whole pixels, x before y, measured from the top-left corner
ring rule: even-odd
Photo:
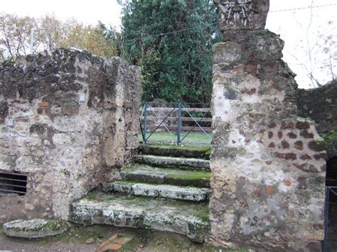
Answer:
[[[7,236],[20,238],[55,236],[67,230],[68,225],[64,221],[47,219],[18,219],[5,223],[3,227],[3,231]]]

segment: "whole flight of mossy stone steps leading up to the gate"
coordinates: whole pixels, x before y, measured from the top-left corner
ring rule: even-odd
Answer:
[[[172,231],[203,242],[208,234],[209,148],[143,146],[120,179],[73,202],[72,221]]]

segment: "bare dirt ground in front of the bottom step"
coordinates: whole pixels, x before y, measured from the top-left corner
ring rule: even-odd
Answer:
[[[2,230],[2,226],[0,226]],[[45,239],[16,239],[6,236],[0,231],[0,251],[13,252],[95,252],[97,246],[114,234],[132,236],[120,251],[220,251],[213,246],[193,243],[185,236],[168,232],[149,231],[145,229],[124,229],[114,226],[70,226],[68,232]],[[86,244],[87,239],[95,243]],[[222,250],[223,252],[225,250]],[[240,250],[245,251],[245,250]]]

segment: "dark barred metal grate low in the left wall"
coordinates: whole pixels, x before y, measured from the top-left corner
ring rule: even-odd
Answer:
[[[0,172],[0,193],[26,195],[28,176],[21,173]]]

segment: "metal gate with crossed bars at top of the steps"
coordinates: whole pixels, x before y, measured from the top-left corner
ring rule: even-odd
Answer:
[[[209,104],[146,103],[141,111],[144,143],[210,145],[212,117]],[[166,133],[166,135],[165,135]],[[161,139],[158,136],[166,136]],[[169,140],[167,139],[169,137]]]

